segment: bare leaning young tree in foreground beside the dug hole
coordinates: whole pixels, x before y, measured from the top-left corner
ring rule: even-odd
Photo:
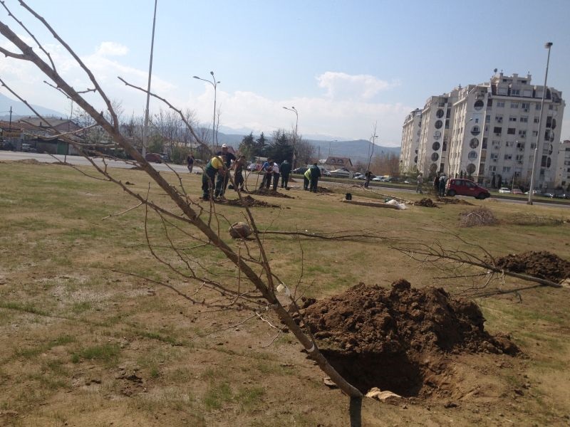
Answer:
[[[318,364],[338,387],[350,396],[350,418],[351,426],[361,425],[361,391],[348,383],[338,372],[331,367],[327,359],[323,356],[318,345],[311,335],[311,332],[303,322],[299,325],[291,317],[291,311],[297,311],[299,308],[296,305],[295,292],[291,292],[282,280],[274,273],[266,255],[266,251],[261,239],[261,233],[257,228],[256,220],[249,209],[245,210],[244,221],[252,230],[252,241],[241,241],[237,246],[229,246],[221,236],[224,224],[227,224],[227,218],[219,214],[216,205],[209,202],[201,202],[193,199],[187,194],[182,185],[182,180],[179,177],[177,185],[172,185],[164,176],[159,174],[154,168],[150,166],[140,152],[130,144],[130,141],[120,132],[120,121],[118,114],[113,107],[113,102],[105,94],[101,88],[95,75],[87,67],[79,56],[73,51],[71,46],[68,45],[63,39],[58,36],[58,33],[43,19],[42,16],[31,9],[23,0],[20,1],[21,6],[27,11],[33,19],[40,21],[43,26],[51,33],[53,38],[63,46],[64,49],[73,57],[76,63],[86,73],[90,84],[93,85],[93,92],[98,95],[99,99],[105,105],[105,113],[98,111],[92,103],[86,100],[83,96],[83,91],[73,88],[62,76],[58,73],[56,64],[53,62],[51,55],[46,51],[43,44],[36,39],[33,34],[26,28],[21,20],[16,19],[14,13],[10,11],[6,4],[2,2],[2,6],[8,11],[9,16],[14,18],[13,26],[21,26],[24,30],[32,36],[33,41],[37,43],[39,53],[36,49],[30,46],[23,38],[18,36],[16,32],[4,22],[0,21],[0,33],[6,41],[13,43],[14,48],[0,47],[0,53],[3,53],[11,60],[20,60],[32,63],[38,70],[46,75],[51,80],[51,85],[58,90],[58,92],[66,95],[70,100],[83,109],[94,121],[100,126],[113,141],[122,147],[125,152],[134,159],[154,183],[170,197],[172,204],[157,204],[152,201],[152,194],[141,195],[132,191],[128,186],[123,184],[120,180],[116,179],[112,172],[106,167],[100,167],[92,159],[88,157],[93,167],[104,177],[113,183],[120,186],[123,191],[138,201],[138,206],[145,206],[146,216],[154,213],[160,221],[162,226],[162,238],[165,239],[165,246],[168,253],[162,251],[161,246],[155,246],[153,243],[149,229],[145,227],[147,244],[155,258],[164,265],[165,269],[169,269],[183,278],[185,281],[197,284],[197,288],[190,292],[190,290],[183,290],[171,285],[170,283],[160,283],[163,286],[171,288],[182,297],[185,297],[192,304],[207,305],[212,310],[238,310],[239,312],[247,311],[250,313],[250,318],[263,318],[268,312],[274,312],[279,320],[291,331],[296,339],[299,340],[301,345],[306,349],[311,359]],[[126,85],[130,85],[128,81],[121,79]],[[6,82],[0,79],[0,83],[9,88]],[[136,88],[146,92],[142,88]],[[17,93],[11,90],[14,95]],[[195,139],[203,144],[202,139],[199,138],[190,122],[185,120],[182,111],[177,110],[167,100],[151,94],[162,102],[165,102],[171,110],[177,112],[181,119],[185,121],[187,129],[192,133]],[[19,99],[22,100],[21,97]],[[24,100],[23,100],[24,101]],[[25,101],[24,101],[25,102]],[[28,107],[31,105],[27,104]],[[81,143],[68,135],[59,135],[59,137],[66,138],[69,142],[76,144],[81,148]],[[241,199],[241,194],[238,191],[238,196]],[[145,222],[145,225],[147,222]],[[180,238],[175,238],[173,233],[176,232],[177,236],[183,235],[188,241],[192,241],[192,246],[181,246]],[[187,245],[187,243],[186,243]],[[207,260],[199,257],[192,256],[188,253],[192,248],[208,246],[214,251],[222,253],[229,265],[232,265],[232,274],[226,275],[219,273],[219,263],[209,265]],[[225,270],[229,266],[224,263]],[[147,278],[147,280],[150,280]],[[291,287],[294,290],[294,287]],[[277,290],[283,290],[284,296],[278,297]],[[199,295],[199,292],[204,292]],[[277,333],[282,331],[282,327],[276,328]]]

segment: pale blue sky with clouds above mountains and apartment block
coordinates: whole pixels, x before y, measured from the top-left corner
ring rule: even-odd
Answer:
[[[123,115],[142,117],[154,0],[28,0],[90,67]],[[6,6],[59,62],[77,90],[92,88],[38,21]],[[482,83],[494,68],[532,75],[570,96],[570,0],[157,0],[151,91],[210,127],[214,71],[224,132],[291,130],[309,139],[369,139],[400,146],[405,116],[428,97]],[[4,9],[0,21],[14,25]],[[13,28],[16,28],[13,26]],[[17,33],[30,37],[22,28]],[[0,46],[14,46],[0,36]],[[36,49],[37,50],[37,49]],[[0,78],[24,99],[70,114],[71,103],[30,64],[0,56]],[[14,98],[6,88],[0,93]],[[93,95],[86,98],[102,108]],[[167,107],[150,102],[151,114]],[[229,129],[228,129],[229,128]],[[562,122],[570,139],[570,112]]]

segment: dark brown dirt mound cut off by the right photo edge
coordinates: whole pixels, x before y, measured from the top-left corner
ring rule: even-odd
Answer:
[[[546,251],[511,254],[495,262],[497,267],[512,273],[524,273],[554,283],[570,278],[570,262]]]

